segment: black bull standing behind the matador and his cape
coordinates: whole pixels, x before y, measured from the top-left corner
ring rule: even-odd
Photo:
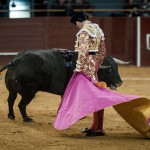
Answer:
[[[75,69],[77,53],[64,50],[22,51],[0,72],[7,69],[5,84],[9,91],[8,118],[14,120],[13,105],[17,93],[21,95],[18,104],[23,121],[30,122],[26,106],[38,91],[63,95],[73,70]],[[103,65],[108,69],[99,69],[98,78],[107,83],[108,87],[117,87],[122,81],[118,74],[118,67],[112,57],[107,56]]]

